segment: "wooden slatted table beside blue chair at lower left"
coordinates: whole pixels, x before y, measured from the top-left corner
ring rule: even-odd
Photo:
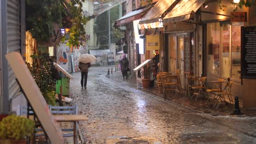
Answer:
[[[57,122],[73,122],[73,131],[74,131],[74,143],[77,143],[77,125],[75,124],[78,121],[88,121],[88,117],[84,115],[54,115],[54,118]]]

